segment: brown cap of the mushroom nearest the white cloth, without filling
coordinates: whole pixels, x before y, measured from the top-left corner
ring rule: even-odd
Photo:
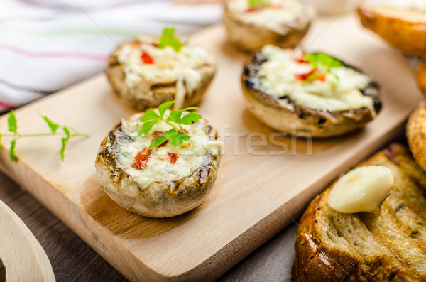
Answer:
[[[135,41],[119,45],[109,56],[106,72],[114,92],[134,109],[144,111],[148,108],[158,107],[164,102],[174,100],[177,80],[153,81],[142,77],[141,81],[135,87],[127,85],[125,83],[126,73],[124,72],[124,65],[119,63],[118,53],[124,45],[138,45],[140,43],[140,41]],[[201,102],[216,72],[214,58],[209,56],[208,61],[212,63],[205,63],[195,69],[200,74],[201,81],[195,87],[192,94],[185,94],[185,100],[182,105],[179,105],[180,107],[190,107]]]

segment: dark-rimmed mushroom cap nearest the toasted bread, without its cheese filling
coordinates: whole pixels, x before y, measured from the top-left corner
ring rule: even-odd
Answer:
[[[246,63],[241,75],[241,87],[250,112],[271,129],[296,136],[326,138],[354,131],[374,119],[375,114],[367,108],[324,112],[290,100],[283,102],[266,94],[256,80],[259,66],[265,61],[261,52],[258,52]],[[351,65],[344,66],[361,72]],[[367,87],[361,90],[365,96],[373,99],[376,114],[381,110],[379,89],[371,78]]]

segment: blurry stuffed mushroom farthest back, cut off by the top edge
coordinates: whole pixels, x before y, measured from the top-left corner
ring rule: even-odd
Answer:
[[[297,45],[307,33],[314,11],[297,0],[229,0],[223,23],[237,48],[253,51],[264,45]]]

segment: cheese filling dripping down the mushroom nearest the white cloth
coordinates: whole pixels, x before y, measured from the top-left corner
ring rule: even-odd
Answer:
[[[176,104],[182,105],[185,95],[192,95],[195,87],[201,82],[201,75],[195,69],[203,65],[212,65],[212,57],[206,50],[191,43],[182,46],[176,52],[170,46],[157,48],[152,37],[140,38],[143,43],[122,45],[118,50],[119,63],[124,65],[126,77],[124,83],[130,88],[138,85],[141,80],[168,84],[176,82]],[[146,52],[153,58],[153,64],[143,63],[141,54]]]

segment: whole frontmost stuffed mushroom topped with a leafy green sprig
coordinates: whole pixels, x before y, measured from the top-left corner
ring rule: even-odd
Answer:
[[[181,136],[179,145],[176,139],[155,144],[173,122],[160,120],[141,134],[149,124],[141,116],[122,120],[102,141],[95,163],[100,185],[121,207],[146,217],[173,217],[199,206],[219,168],[222,141],[217,131],[198,120],[175,131],[188,136]],[[170,111],[164,119],[168,116]]]

